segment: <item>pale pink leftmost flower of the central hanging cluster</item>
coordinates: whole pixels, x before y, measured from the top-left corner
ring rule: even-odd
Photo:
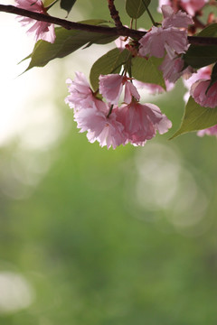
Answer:
[[[74,81],[67,79],[66,83],[69,85],[70,92],[70,95],[65,98],[66,104],[76,109],[91,107],[91,103],[94,103],[95,98],[90,89],[90,84],[82,72],[75,72]]]

